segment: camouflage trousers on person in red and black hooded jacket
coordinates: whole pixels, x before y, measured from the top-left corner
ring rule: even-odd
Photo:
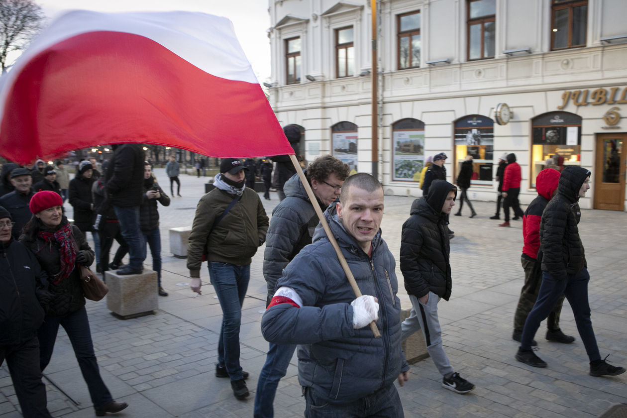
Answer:
[[[525,321],[529,312],[534,308],[540,291],[540,283],[542,283],[542,270],[540,270],[540,263],[537,260],[530,259],[523,254],[520,257],[520,263],[522,263],[522,268],[525,271],[525,283],[520,291],[520,298],[514,313],[514,332],[522,332],[522,328],[525,327]],[[547,318],[549,331],[559,330],[559,315],[562,312],[562,303],[564,303],[565,297],[564,295],[560,296],[553,310],[549,313],[549,318]]]

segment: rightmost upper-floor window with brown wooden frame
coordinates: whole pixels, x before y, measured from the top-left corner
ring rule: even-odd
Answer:
[[[551,50],[586,46],[587,0],[553,0]]]

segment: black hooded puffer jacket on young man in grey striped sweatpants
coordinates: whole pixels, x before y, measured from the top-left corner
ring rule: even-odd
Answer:
[[[451,296],[448,215],[443,214],[452,184],[436,180],[429,194],[411,205],[411,216],[401,233],[401,273],[409,295],[421,298],[429,291],[445,300]]]

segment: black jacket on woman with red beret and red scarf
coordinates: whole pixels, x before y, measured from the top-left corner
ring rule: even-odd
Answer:
[[[59,227],[67,224],[67,222],[68,219],[64,216]],[[47,229],[41,224],[41,221],[38,221],[38,223],[42,231],[51,233],[55,231],[54,229]],[[87,251],[87,266],[90,266],[94,258],[92,249],[89,247],[89,244],[87,244],[85,236],[78,227],[73,225],[71,229],[77,249]],[[76,266],[68,278],[59,281],[56,285],[53,283],[55,281],[54,276],[61,270],[60,246],[56,241],[46,243],[46,241],[39,236],[35,236],[34,239],[23,236],[21,243],[35,255],[41,268],[46,271],[50,277],[48,291],[50,291],[53,296],[48,305],[46,315],[64,316],[85,305],[85,296],[83,296],[83,290],[80,285],[80,269],[76,268]]]

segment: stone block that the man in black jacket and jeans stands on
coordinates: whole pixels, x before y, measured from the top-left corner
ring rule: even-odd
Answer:
[[[150,315],[159,308],[157,272],[144,269],[141,274],[118,276],[116,270],[105,273],[109,288],[107,308],[120,319]]]

